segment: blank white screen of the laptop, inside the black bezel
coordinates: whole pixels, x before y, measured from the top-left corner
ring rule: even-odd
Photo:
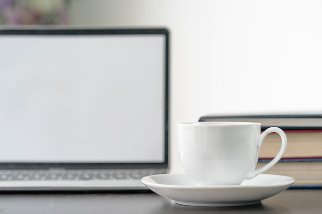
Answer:
[[[0,37],[1,162],[164,162],[163,35]]]

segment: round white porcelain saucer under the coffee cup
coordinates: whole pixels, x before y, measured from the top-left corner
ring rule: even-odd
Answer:
[[[216,207],[258,204],[294,183],[291,177],[274,174],[259,174],[241,185],[232,186],[196,186],[186,174],[157,174],[141,181],[155,193],[177,204]]]

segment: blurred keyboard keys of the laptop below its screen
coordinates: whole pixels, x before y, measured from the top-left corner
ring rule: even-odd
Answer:
[[[156,173],[153,170],[3,170],[0,181],[130,180]]]

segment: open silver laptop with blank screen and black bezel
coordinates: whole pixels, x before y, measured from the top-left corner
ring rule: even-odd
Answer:
[[[0,29],[0,191],[168,172],[167,29]]]

